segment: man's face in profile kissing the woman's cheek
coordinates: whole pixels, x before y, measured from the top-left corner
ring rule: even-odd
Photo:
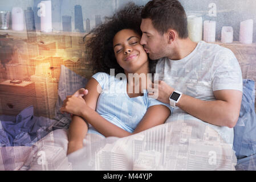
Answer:
[[[156,60],[168,56],[168,38],[153,27],[150,18],[142,19],[140,29],[143,32],[140,44],[144,46],[150,59]]]

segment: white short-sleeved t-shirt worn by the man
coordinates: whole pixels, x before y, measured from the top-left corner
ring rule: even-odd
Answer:
[[[159,80],[165,81],[175,90],[204,101],[216,100],[213,94],[215,90],[232,89],[242,92],[242,72],[234,53],[204,41],[198,42],[194,51],[184,59],[160,59],[156,73],[159,73]],[[203,122],[178,107],[173,109],[166,122],[185,120]],[[233,128],[204,123],[217,130],[227,143],[233,144]]]

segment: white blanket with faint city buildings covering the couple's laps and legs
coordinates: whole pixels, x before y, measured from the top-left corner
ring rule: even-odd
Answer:
[[[66,156],[67,130],[32,147],[0,147],[0,170],[234,170],[232,146],[204,123],[165,123],[125,138],[87,134]]]

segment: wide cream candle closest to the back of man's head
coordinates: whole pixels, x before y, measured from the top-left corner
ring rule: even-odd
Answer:
[[[188,16],[188,33],[193,42],[202,40],[202,17]]]

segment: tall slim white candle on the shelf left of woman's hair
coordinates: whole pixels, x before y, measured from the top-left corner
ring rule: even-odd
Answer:
[[[42,1],[40,9],[42,9],[41,31],[42,32],[52,32],[51,1]]]

